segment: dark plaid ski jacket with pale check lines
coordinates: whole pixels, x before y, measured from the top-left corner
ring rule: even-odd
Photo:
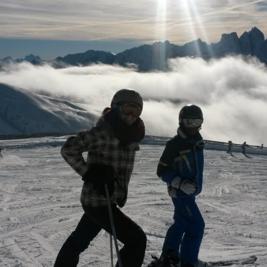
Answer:
[[[119,146],[118,139],[114,136],[111,126],[101,121],[97,126],[87,132],[71,136],[61,149],[61,155],[78,174],[82,177],[92,164],[105,164],[114,169],[115,190],[111,203],[120,207],[127,200],[128,184],[134,168],[135,151],[139,150],[137,143],[126,147]],[[83,152],[88,152],[87,160]],[[107,205],[107,199],[97,193],[93,184],[84,183],[81,202],[83,205],[98,207]]]

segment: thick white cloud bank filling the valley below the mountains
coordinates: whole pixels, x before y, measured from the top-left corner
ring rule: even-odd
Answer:
[[[177,58],[167,73],[138,73],[118,66],[53,69],[23,63],[0,73],[0,82],[87,104],[101,113],[114,93],[133,88],[144,98],[146,134],[173,136],[180,109],[201,107],[204,139],[267,146],[267,68],[256,59],[227,57],[206,62]]]

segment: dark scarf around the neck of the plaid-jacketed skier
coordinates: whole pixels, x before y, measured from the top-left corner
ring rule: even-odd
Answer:
[[[132,125],[128,125],[119,117],[116,110],[107,109],[104,120],[111,125],[115,137],[123,147],[132,142],[139,143],[145,137],[145,125],[139,117]]]

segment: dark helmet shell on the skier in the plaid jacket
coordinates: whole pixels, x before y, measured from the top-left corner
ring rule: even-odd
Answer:
[[[111,107],[117,108],[123,103],[133,103],[143,109],[143,99],[139,93],[132,89],[121,89],[117,91],[111,100]]]

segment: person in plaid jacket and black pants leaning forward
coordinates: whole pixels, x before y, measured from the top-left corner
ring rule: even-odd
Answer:
[[[122,266],[142,266],[146,234],[118,208],[127,200],[135,151],[145,136],[140,118],[142,109],[143,100],[137,92],[121,89],[95,127],[77,137],[69,137],[63,145],[62,156],[84,182],[81,195],[84,214],[59,251],[54,267],[76,267],[80,253],[101,229],[112,234],[104,184],[108,185],[117,239],[124,244],[119,252]],[[86,161],[82,155],[85,151],[88,152]]]

